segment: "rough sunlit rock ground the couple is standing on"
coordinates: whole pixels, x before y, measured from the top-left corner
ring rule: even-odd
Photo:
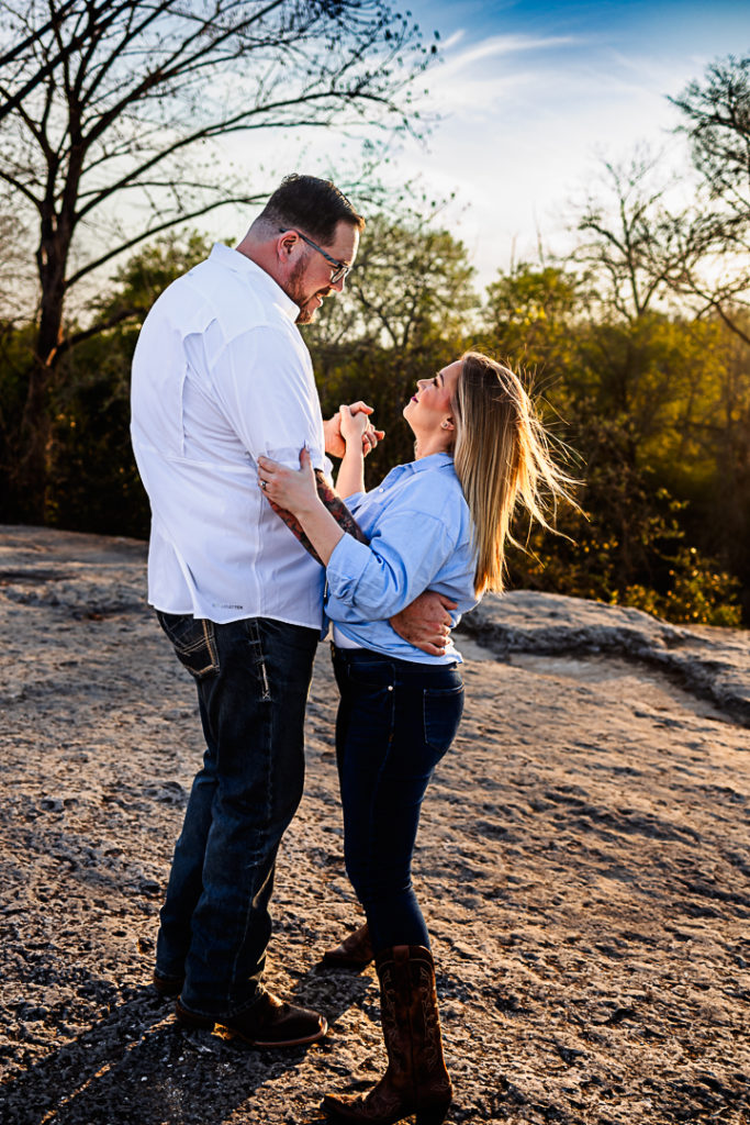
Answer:
[[[325,646],[268,976],[331,1035],[262,1053],[184,1034],[148,979],[201,741],[144,561],[142,543],[0,530],[0,1119],[322,1123],[325,1091],[383,1066],[372,970],[317,964],[356,921]],[[524,593],[464,628],[466,717],[415,864],[449,1125],[744,1125],[748,634]]]

